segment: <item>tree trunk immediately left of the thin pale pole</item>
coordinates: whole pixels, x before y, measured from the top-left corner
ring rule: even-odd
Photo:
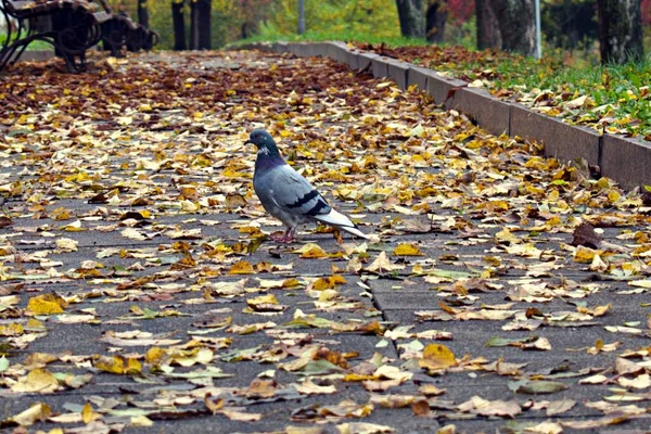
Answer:
[[[489,2],[499,23],[502,50],[534,55],[536,53],[534,0],[489,0]]]

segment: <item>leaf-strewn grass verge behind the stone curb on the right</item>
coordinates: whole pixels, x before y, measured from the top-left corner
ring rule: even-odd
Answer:
[[[551,58],[535,60],[458,46],[392,48],[356,43],[354,47],[432,68],[573,125],[651,140],[650,71],[644,63],[587,66],[582,71],[565,67]]]

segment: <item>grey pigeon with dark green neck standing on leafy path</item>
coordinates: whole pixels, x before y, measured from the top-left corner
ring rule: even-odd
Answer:
[[[307,179],[285,163],[271,135],[256,129],[245,142],[248,143],[255,144],[258,150],[253,174],[255,194],[267,213],[288,228],[284,234],[273,238],[276,241],[292,242],[296,228],[309,221],[330,225],[368,240],[357,225],[333,209]]]

